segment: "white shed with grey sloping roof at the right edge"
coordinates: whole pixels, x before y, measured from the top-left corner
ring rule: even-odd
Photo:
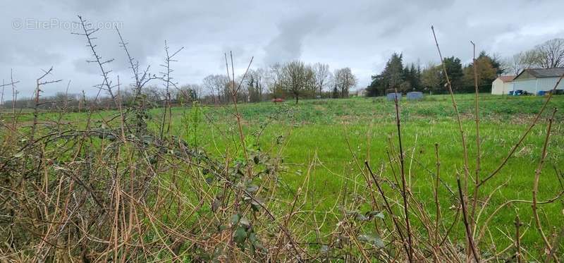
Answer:
[[[528,68],[513,79],[513,89],[523,90],[530,94],[550,91],[563,74],[564,68]],[[556,89],[564,90],[564,82],[560,82]]]

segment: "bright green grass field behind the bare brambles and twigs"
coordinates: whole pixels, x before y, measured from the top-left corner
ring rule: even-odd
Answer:
[[[474,95],[460,94],[455,99],[467,137],[470,174],[474,176],[477,157]],[[525,132],[544,99],[480,95],[480,176],[489,175],[501,163]],[[493,193],[487,206],[479,204],[479,207],[487,207],[477,219],[479,222],[484,221],[503,202],[532,199],[534,173],[546,137],[547,118],[553,108],[557,108],[558,112],[541,173],[539,201],[548,200],[563,189],[562,178],[558,178],[556,171],[564,168],[564,97],[556,96],[532,133],[517,148],[514,157],[482,188],[481,200],[485,200],[490,192]],[[293,190],[306,185],[307,200],[304,200],[302,209],[320,214],[340,209],[335,207],[346,209],[355,198],[369,198],[362,176],[364,160],[368,160],[374,170],[384,165],[383,175],[393,181],[391,169],[398,169],[397,166],[392,168],[388,159],[388,152],[393,158],[397,157],[398,147],[393,102],[381,97],[312,99],[300,100],[298,105],[291,101],[282,104],[239,104],[238,109],[243,117],[247,147],[255,147],[272,155],[280,154],[283,158],[286,171],[281,175],[281,183],[289,187],[281,188],[278,192],[280,196],[276,198],[290,199]],[[456,174],[463,173],[464,169],[460,133],[450,96],[427,96],[417,102],[403,99],[400,111],[406,156],[405,173],[413,195],[423,200],[428,207],[434,207],[432,185],[437,161],[434,149],[435,144],[439,145],[440,174],[446,185],[440,189],[439,202],[443,209],[443,220],[448,224],[455,216],[451,207],[457,198],[448,192],[448,188],[457,189]],[[94,114],[94,118],[98,119],[96,125],[101,125],[99,120],[112,114],[115,113],[106,111]],[[152,109],[153,121],[149,129],[157,129],[161,114],[162,109]],[[233,114],[233,106],[175,107],[172,109],[171,133],[188,140],[192,146],[206,149],[212,155],[240,153],[238,126]],[[43,114],[41,118],[49,120],[57,116]],[[22,118],[25,121],[30,116]],[[65,116],[68,121],[83,121],[84,118],[84,113]],[[500,188],[504,183],[506,185]],[[562,200],[541,204],[541,221],[549,234],[559,231],[564,225],[563,208]],[[500,246],[497,250],[501,250],[501,246],[512,243],[507,235],[514,231],[516,212],[527,228],[522,243],[541,251],[543,244],[539,242],[531,206],[527,203],[516,203],[501,209],[493,217],[480,246],[487,247],[494,240]],[[337,221],[336,216],[329,216],[321,232],[329,231]],[[305,220],[302,224],[312,225],[313,222]],[[460,237],[460,242],[464,240],[462,224],[455,226],[454,233]],[[534,256],[539,251],[529,253]]]

